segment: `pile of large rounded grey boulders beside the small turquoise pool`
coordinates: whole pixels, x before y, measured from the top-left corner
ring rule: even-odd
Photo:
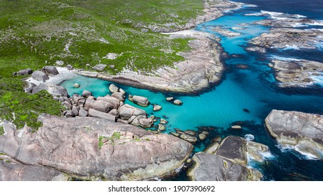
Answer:
[[[112,95],[98,98],[95,98],[87,90],[84,90],[82,95],[74,94],[71,98],[60,98],[61,103],[68,109],[63,112],[63,115],[68,118],[75,116],[104,118],[113,122],[132,124],[143,128],[153,125],[153,120],[147,117],[146,111],[124,104],[126,100],[125,91],[114,84],[110,85],[109,90]],[[133,97],[139,102],[137,102],[138,104],[145,105],[149,102],[147,98],[141,96],[134,95]]]

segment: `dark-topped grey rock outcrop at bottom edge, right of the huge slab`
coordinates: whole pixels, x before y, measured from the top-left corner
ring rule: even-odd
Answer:
[[[268,146],[261,143],[230,136],[195,154],[188,176],[197,181],[260,180],[262,173],[248,168],[248,159],[263,162],[262,153],[268,152]]]

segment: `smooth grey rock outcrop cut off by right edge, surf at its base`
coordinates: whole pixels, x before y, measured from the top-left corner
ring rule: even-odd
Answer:
[[[272,110],[266,129],[283,146],[323,159],[323,116],[299,111]]]

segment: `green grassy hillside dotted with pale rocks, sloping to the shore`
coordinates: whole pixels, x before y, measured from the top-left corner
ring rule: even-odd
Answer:
[[[188,40],[154,31],[181,29],[202,8],[202,0],[0,0],[0,118],[38,127],[39,113],[61,113],[48,93],[24,93],[17,70],[103,63],[116,74],[183,60],[176,52],[189,49]]]

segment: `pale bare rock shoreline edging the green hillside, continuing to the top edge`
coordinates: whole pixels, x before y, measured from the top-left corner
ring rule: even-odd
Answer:
[[[170,33],[173,31],[167,29],[158,31],[169,33],[170,38],[193,38],[189,42],[190,52],[179,54],[186,60],[174,64],[174,67],[159,68],[146,75],[131,70],[124,70],[117,75],[82,70],[78,71],[77,74],[137,88],[148,88],[153,91],[198,93],[209,88],[211,84],[216,84],[220,81],[223,73],[223,49],[218,42],[214,42],[213,36],[209,33],[187,29],[192,29],[202,22],[215,20],[223,16],[223,13],[239,9],[245,5],[244,3],[232,1],[208,1],[204,3],[205,14],[197,17],[192,24],[188,24],[186,27],[179,27],[175,33]]]

